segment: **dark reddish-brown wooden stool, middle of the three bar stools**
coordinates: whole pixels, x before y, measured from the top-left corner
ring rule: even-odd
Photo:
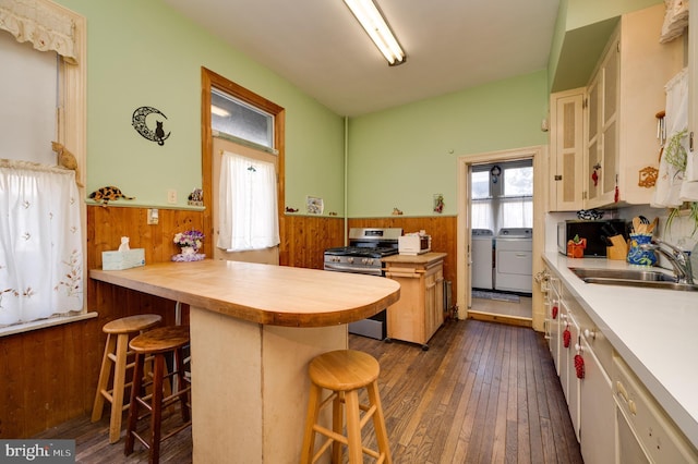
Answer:
[[[135,352],[135,367],[133,369],[133,388],[131,389],[131,406],[129,408],[129,423],[127,426],[127,440],[124,453],[133,452],[134,439],[137,439],[149,450],[149,462],[157,463],[160,459],[160,442],[174,436],[177,432],[191,425],[191,386],[184,376],[184,361],[182,349],[189,344],[189,326],[170,326],[145,332],[133,340],[129,346]],[[166,355],[173,354],[172,373],[166,374]],[[147,356],[153,356],[153,393],[144,394],[143,367]],[[173,377],[172,393],[164,394],[165,378]],[[148,402],[149,400],[149,402]],[[168,434],[161,436],[163,408],[180,402],[183,424],[170,427]],[[139,416],[141,406],[146,412]],[[139,419],[151,416],[149,435],[140,435],[136,430]],[[147,437],[147,438],[144,438]]]

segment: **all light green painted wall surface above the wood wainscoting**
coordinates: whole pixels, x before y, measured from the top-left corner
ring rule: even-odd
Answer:
[[[305,196],[325,212],[383,217],[433,215],[434,194],[456,213],[457,157],[545,145],[547,70],[467,88],[349,121],[345,211],[344,119],[164,4],[161,0],[59,0],[85,15],[88,27],[87,192],[112,184],[136,205],[179,205],[201,186],[201,66],[287,110],[286,206],[304,211]],[[553,53],[570,27],[657,0],[563,0]],[[591,4],[589,4],[591,3]],[[234,26],[234,20],[231,21]],[[558,57],[550,64],[557,66]],[[167,115],[164,146],[131,125],[137,107]]]

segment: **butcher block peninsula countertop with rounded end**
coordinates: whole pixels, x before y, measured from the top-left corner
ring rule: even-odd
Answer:
[[[251,322],[326,327],[371,317],[399,300],[400,285],[374,276],[204,259],[160,262],[89,277]]]

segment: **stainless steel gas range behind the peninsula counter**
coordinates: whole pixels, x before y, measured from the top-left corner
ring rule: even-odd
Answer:
[[[349,230],[349,246],[325,249],[324,269],[335,272],[385,276],[381,258],[398,253],[400,228],[352,228]],[[385,309],[370,319],[349,323],[349,332],[372,339],[387,337]]]

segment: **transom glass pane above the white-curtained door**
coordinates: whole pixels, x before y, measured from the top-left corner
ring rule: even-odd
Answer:
[[[218,90],[210,93],[214,131],[274,148],[274,117]]]

